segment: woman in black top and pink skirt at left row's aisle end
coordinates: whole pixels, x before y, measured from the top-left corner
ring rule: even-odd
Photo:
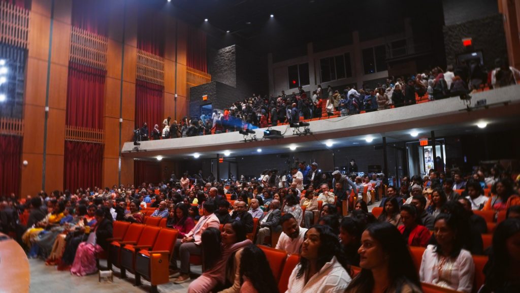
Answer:
[[[96,225],[85,242],[82,242],[76,250],[76,256],[70,269],[71,274],[85,276],[97,271],[96,253],[108,249],[108,238],[112,237],[112,220],[108,217],[108,209],[96,210]]]

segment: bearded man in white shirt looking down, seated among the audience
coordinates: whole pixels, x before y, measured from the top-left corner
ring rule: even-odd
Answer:
[[[300,227],[290,213],[286,213],[280,219],[283,233],[278,238],[276,249],[284,250],[287,254],[300,253],[306,228]]]

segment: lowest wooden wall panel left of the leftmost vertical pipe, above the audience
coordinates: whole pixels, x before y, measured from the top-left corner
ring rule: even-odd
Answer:
[[[27,135],[23,138],[24,146]],[[40,144],[41,145],[41,144]],[[22,165],[21,174],[21,197],[35,196],[42,189],[42,154],[22,154],[22,161],[27,160],[27,166]],[[63,188],[63,186],[61,187]]]

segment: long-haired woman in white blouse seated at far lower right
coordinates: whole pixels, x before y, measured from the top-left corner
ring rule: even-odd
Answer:
[[[435,219],[437,245],[428,245],[424,251],[419,274],[421,282],[470,293],[475,265],[471,253],[462,249],[455,218],[441,213]]]

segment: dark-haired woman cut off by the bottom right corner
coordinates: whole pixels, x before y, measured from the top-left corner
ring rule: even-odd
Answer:
[[[520,292],[520,220],[508,219],[493,233],[493,246],[484,266],[486,281],[479,293]]]

